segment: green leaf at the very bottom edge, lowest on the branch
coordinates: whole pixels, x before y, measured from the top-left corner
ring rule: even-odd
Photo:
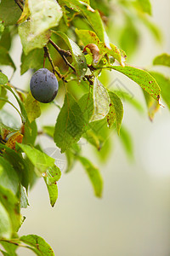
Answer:
[[[20,241],[23,241],[27,245],[31,246],[30,248],[39,256],[54,256],[53,249],[40,236],[21,236]]]

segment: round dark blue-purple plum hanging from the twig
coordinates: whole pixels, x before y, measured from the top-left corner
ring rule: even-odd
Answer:
[[[47,68],[40,68],[31,77],[30,90],[38,102],[48,103],[57,95],[59,84],[54,73]]]

